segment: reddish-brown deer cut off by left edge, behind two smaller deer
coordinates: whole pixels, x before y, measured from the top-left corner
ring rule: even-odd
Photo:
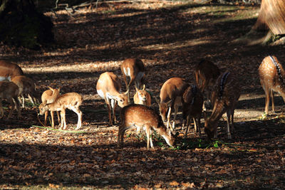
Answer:
[[[9,63],[6,60],[0,60],[0,81],[11,81],[11,78],[18,75],[24,75],[19,65]]]

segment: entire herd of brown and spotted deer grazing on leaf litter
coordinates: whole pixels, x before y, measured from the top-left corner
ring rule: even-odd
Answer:
[[[190,127],[190,120],[193,119],[195,132],[201,137],[200,118],[204,108],[203,93],[207,91],[207,100],[212,89],[211,103],[212,114],[209,118],[204,112],[204,132],[209,139],[217,137],[217,124],[224,113],[227,113],[227,137],[231,139],[231,130],[234,130],[234,109],[239,100],[241,89],[239,80],[229,71],[220,73],[217,65],[209,60],[202,60],[195,67],[195,83],[190,85],[182,78],[170,78],[160,90],[160,100],[155,98],[159,105],[160,115],[150,108],[151,96],[145,90],[145,67],[142,60],[138,58],[128,58],[120,66],[127,91],[120,93],[121,83],[117,75],[112,72],[102,73],[96,85],[97,93],[105,100],[108,107],[108,124],[112,126],[116,122],[115,108],[117,104],[120,109],[120,126],[118,130],[118,146],[123,146],[125,130],[130,127],[137,127],[137,132],[144,129],[147,135],[147,149],[153,148],[151,133],[155,130],[160,134],[167,144],[175,144],[175,136],[172,134],[175,128],[178,107],[182,106],[182,129],[185,127],[185,137]],[[274,112],[274,93],[278,92],[285,101],[285,71],[275,56],[267,56],[259,66],[259,77],[262,88],[266,95],[265,113],[269,112],[269,101],[271,95],[272,111]],[[2,100],[7,100],[11,104],[12,112],[18,111],[21,117],[20,102],[24,107],[25,96],[33,104],[39,102],[40,95],[35,90],[33,80],[26,77],[19,67],[14,63],[0,60],[0,111],[4,116]],[[130,86],[135,83],[136,93],[133,97],[135,104],[130,103]],[[142,90],[140,90],[142,89]],[[22,100],[21,100],[21,98]],[[41,95],[39,105],[40,115],[45,115],[45,122],[48,111],[51,112],[51,126],[54,127],[53,112],[57,112],[58,122],[66,130],[66,108],[73,110],[78,115],[76,130],[81,128],[82,112],[80,105],[83,97],[78,93],[66,93],[60,95],[60,89],[49,87]],[[170,116],[174,109],[174,118],[170,124]],[[59,118],[59,112],[61,118]],[[166,122],[166,126],[165,126]],[[231,129],[230,129],[231,126]]]

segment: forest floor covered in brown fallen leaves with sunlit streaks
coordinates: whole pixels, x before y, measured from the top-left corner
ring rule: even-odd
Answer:
[[[74,112],[66,113],[68,130],[62,131],[43,127],[43,116],[32,105],[21,111],[21,120],[16,112],[0,120],[0,189],[284,189],[284,102],[277,95],[276,114],[261,117],[265,100],[258,75],[265,56],[284,62],[284,46],[234,43],[250,31],[259,6],[132,2],[99,4],[74,14],[47,12],[56,43],[41,51],[0,44],[0,58],[18,63],[38,92],[51,86],[84,98],[78,131]],[[183,140],[178,122],[175,148],[155,135],[155,149],[147,150],[145,135],[135,129],[117,148],[118,124],[108,127],[95,85],[105,71],[121,76],[120,63],[130,57],[145,63],[147,90],[156,97],[169,78],[194,83],[193,68],[202,59],[237,73],[242,95],[232,139],[222,128],[225,120],[219,121],[219,139],[212,143],[204,127],[201,139],[191,129]],[[152,107],[158,110],[155,100]]]

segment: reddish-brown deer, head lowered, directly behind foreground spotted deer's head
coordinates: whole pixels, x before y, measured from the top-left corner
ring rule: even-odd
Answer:
[[[160,102],[155,99],[160,107],[160,115],[162,120],[164,122],[167,121],[167,129],[171,127],[170,115],[173,108],[175,109],[175,115],[172,122],[172,130],[175,128],[178,107],[182,105],[182,95],[188,86],[189,84],[186,83],[182,78],[170,78],[162,85],[160,90]]]

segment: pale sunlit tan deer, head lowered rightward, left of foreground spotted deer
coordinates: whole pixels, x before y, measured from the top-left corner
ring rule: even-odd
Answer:
[[[116,121],[115,107],[117,104],[120,107],[128,105],[128,91],[120,94],[120,87],[121,84],[119,78],[112,72],[102,73],[96,85],[98,95],[105,100],[108,107],[109,126],[113,126],[113,122]]]

